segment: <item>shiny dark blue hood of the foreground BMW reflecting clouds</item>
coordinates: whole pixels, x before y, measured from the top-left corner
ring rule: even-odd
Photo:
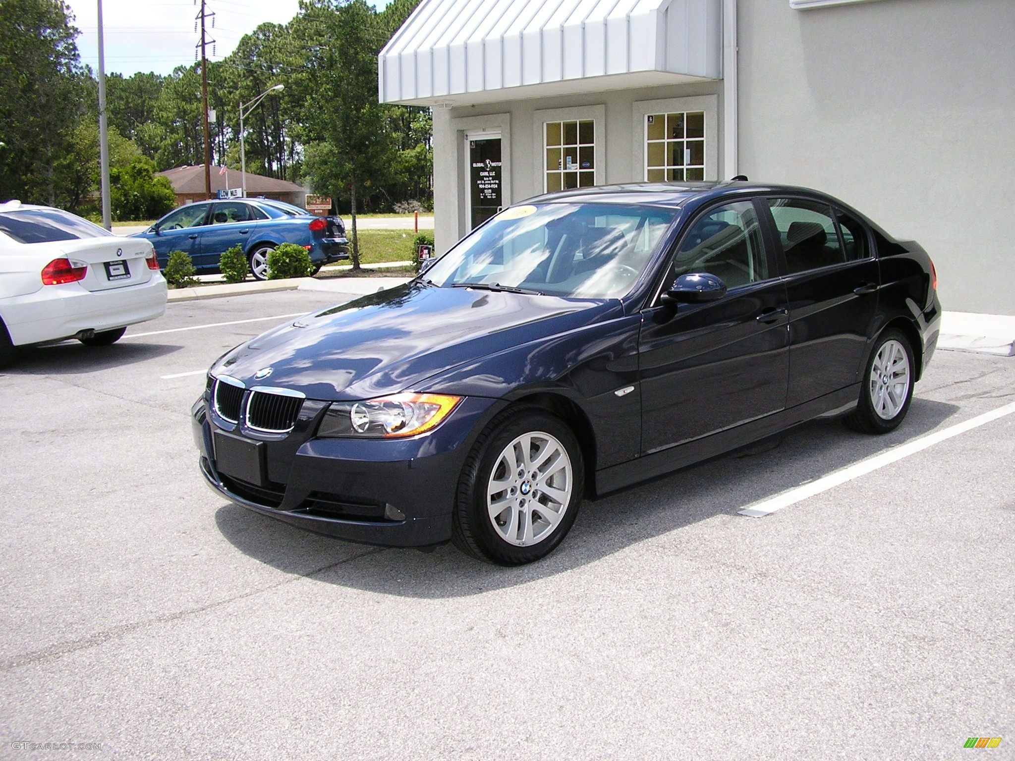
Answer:
[[[422,391],[434,373],[580,328],[611,307],[620,302],[413,281],[270,330],[211,371],[248,388],[281,387],[331,401]]]

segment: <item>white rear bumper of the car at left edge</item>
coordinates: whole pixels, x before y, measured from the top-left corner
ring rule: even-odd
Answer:
[[[141,285],[105,291],[88,291],[78,283],[45,285],[0,299],[0,316],[11,342],[23,346],[154,320],[165,312],[165,279],[157,272]]]

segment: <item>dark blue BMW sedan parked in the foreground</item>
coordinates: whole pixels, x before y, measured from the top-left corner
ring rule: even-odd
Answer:
[[[816,417],[894,429],[940,315],[926,252],[821,193],[565,191],[226,353],[195,440],[208,483],[253,510],[516,565],[583,497]]]

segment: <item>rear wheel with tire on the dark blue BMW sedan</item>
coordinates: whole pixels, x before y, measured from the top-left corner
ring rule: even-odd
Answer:
[[[912,401],[912,349],[900,331],[885,331],[871,352],[857,409],[845,424],[861,433],[887,433],[898,427]]]

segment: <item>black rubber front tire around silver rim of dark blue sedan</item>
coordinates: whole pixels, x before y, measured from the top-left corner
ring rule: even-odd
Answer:
[[[501,454],[518,436],[527,432],[549,434],[562,446],[570,463],[571,491],[567,505],[560,514],[559,523],[555,527],[544,529],[543,538],[536,540],[535,543],[518,546],[507,542],[494,529],[494,520],[490,517],[487,506],[486,491]],[[538,483],[533,482],[533,484],[538,487]],[[533,486],[529,488],[533,489]],[[578,516],[584,490],[585,464],[582,459],[582,448],[571,429],[558,417],[538,407],[510,408],[490,421],[465,461],[455,500],[453,540],[463,552],[497,565],[522,565],[539,560],[551,553],[570,531]],[[520,490],[519,495],[522,493],[531,493],[530,504],[537,501],[540,494],[538,488],[531,492]],[[530,515],[540,515],[538,505],[529,509]],[[538,520],[546,521],[542,516]]]

